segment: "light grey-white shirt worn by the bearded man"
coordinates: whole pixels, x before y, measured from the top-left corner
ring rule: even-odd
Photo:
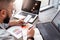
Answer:
[[[0,24],[0,40],[15,40],[13,36],[10,36],[10,34],[4,29],[8,27],[8,24],[2,23]]]

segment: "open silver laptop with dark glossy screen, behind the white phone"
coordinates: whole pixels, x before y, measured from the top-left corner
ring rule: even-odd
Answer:
[[[38,17],[41,1],[36,0],[24,0],[21,8],[21,12],[18,15],[23,15],[21,17],[26,17],[31,15],[32,18],[29,20],[30,23],[33,23]]]

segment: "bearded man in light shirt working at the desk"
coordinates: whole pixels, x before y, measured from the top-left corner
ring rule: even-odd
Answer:
[[[5,32],[4,28],[7,28],[9,26],[23,24],[22,21],[12,22],[12,24],[9,23],[10,17],[12,16],[13,2],[14,1],[15,0],[0,0],[0,32],[2,31],[2,33]],[[7,22],[8,24],[6,24],[4,22]],[[10,40],[10,39],[8,39],[9,37],[13,38],[13,36],[10,36],[10,35],[7,36],[7,35],[2,34],[2,33],[0,33],[0,36],[1,35],[4,35],[4,36],[3,37],[1,36],[0,40]],[[7,32],[5,32],[5,33],[7,33]],[[34,38],[33,38],[33,36],[34,36],[33,28],[28,30],[28,34],[27,35],[28,35],[27,40],[34,40]],[[12,39],[12,40],[15,40],[15,39]]]

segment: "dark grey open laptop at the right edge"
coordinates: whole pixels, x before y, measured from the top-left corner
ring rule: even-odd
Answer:
[[[39,23],[36,25],[44,40],[60,40],[60,11],[52,22]]]

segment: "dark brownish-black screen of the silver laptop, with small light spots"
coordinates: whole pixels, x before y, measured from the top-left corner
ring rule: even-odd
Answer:
[[[22,10],[34,14],[39,13],[41,1],[35,0],[24,0],[22,5]]]

